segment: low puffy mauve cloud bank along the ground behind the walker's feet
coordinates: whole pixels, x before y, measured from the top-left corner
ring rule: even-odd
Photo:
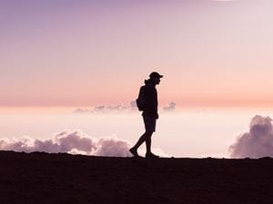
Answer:
[[[84,154],[107,157],[131,157],[129,141],[116,137],[94,138],[83,131],[60,131],[52,139],[0,139],[1,151],[45,151],[48,153],[67,152],[71,154]],[[158,155],[167,157],[160,149],[154,150]],[[139,150],[144,154],[143,150]]]

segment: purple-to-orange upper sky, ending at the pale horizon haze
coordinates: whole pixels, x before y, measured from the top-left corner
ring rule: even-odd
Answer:
[[[1,0],[0,106],[273,104],[271,0]]]

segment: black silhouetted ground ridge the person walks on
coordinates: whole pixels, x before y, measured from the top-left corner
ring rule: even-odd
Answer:
[[[3,204],[272,203],[273,160],[133,159],[0,151]]]

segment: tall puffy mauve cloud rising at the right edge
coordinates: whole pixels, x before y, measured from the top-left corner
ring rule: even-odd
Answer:
[[[238,136],[229,147],[232,158],[273,157],[273,128],[271,118],[256,115],[249,125],[249,131]]]

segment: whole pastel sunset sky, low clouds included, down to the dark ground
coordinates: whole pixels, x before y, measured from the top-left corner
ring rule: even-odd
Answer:
[[[0,0],[0,150],[129,156],[141,112],[72,112],[129,106],[157,71],[153,151],[272,156],[272,10],[272,0]]]

